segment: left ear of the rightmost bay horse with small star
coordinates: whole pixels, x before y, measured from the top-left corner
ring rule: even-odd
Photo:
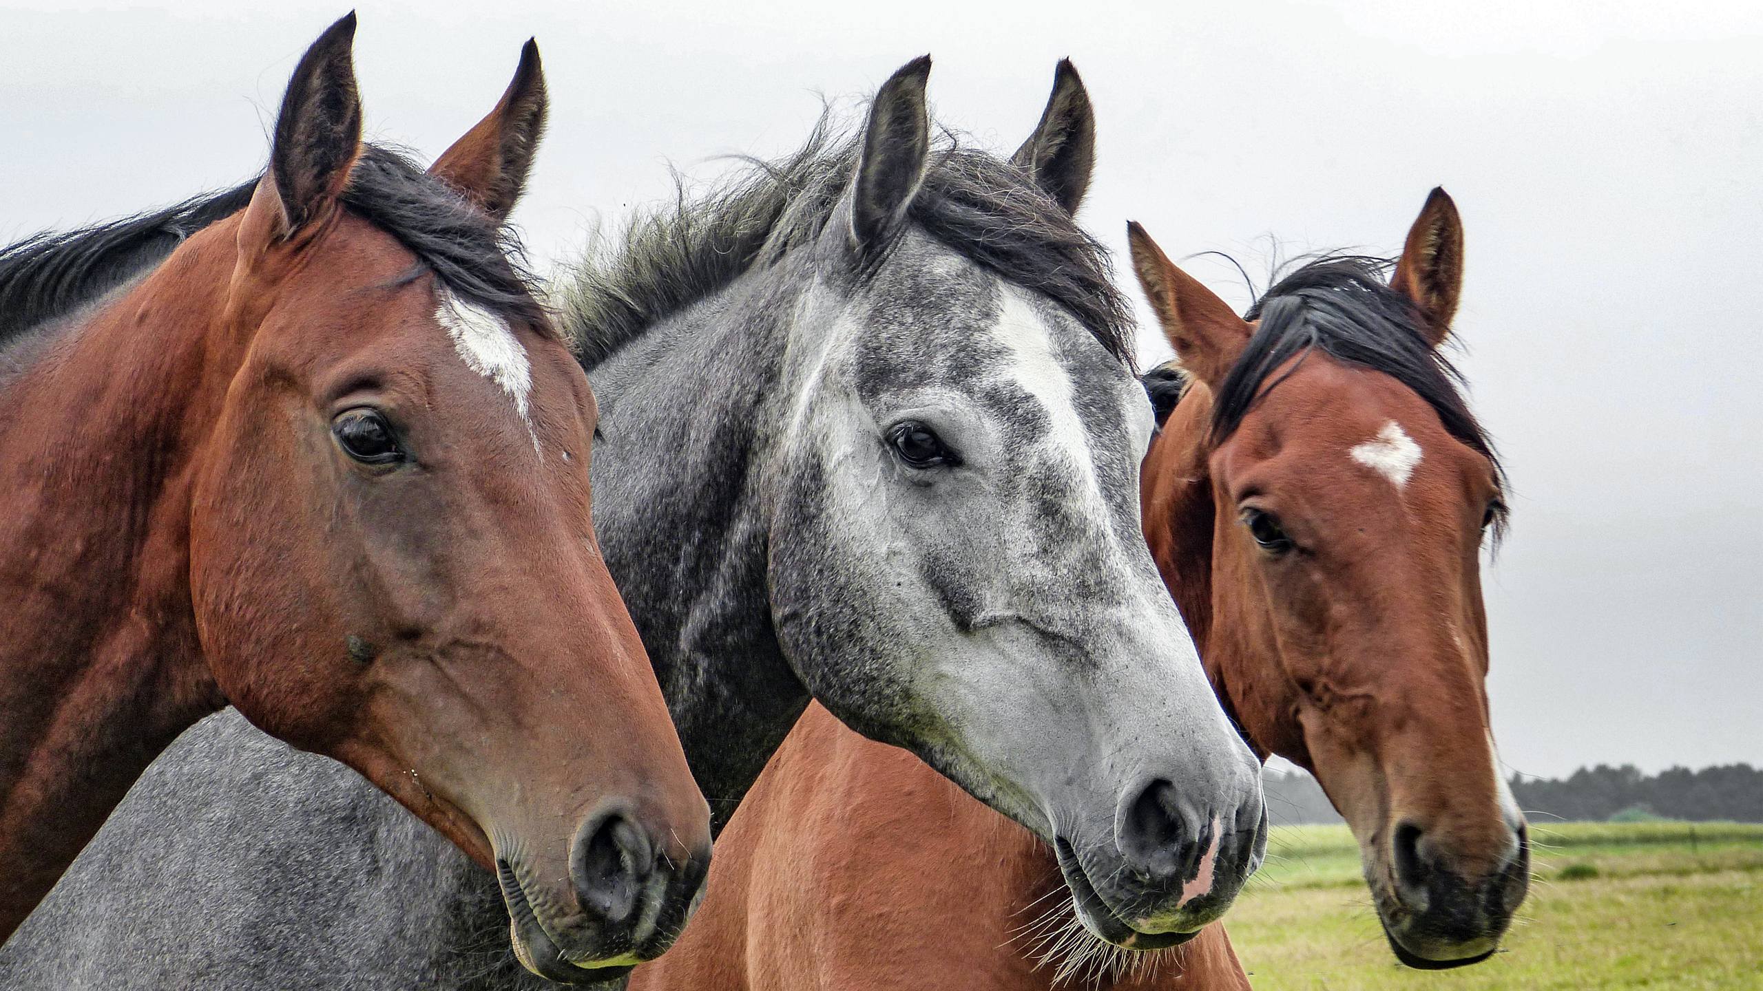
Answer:
[[[1137,222],[1127,224],[1132,270],[1139,275],[1164,337],[1176,349],[1181,369],[1209,388],[1218,388],[1236,365],[1253,328],[1229,303],[1176,268],[1164,249]]]

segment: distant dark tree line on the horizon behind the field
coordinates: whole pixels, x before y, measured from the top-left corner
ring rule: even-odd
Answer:
[[[1322,786],[1303,771],[1268,771],[1268,815],[1278,823],[1340,822]],[[1537,820],[1678,818],[1763,822],[1763,769],[1724,764],[1641,774],[1631,764],[1581,767],[1567,778],[1514,774],[1513,797]]]

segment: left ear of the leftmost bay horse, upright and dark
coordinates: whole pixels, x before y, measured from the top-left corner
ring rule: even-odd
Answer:
[[[361,97],[354,86],[353,49],[354,12],[349,12],[312,42],[287,81],[270,150],[282,236],[328,212],[349,185],[349,169],[361,153]]]

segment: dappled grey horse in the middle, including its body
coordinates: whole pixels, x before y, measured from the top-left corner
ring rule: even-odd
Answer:
[[[1072,220],[1090,104],[1061,65],[1010,160],[933,130],[927,74],[896,72],[855,134],[823,120],[640,217],[562,287],[601,404],[601,547],[716,823],[816,698],[1044,838],[1095,926],[1174,943],[1229,905],[1266,818],[1139,522],[1151,409],[1125,298]],[[402,831],[337,857],[335,822],[388,823],[383,801],[314,809],[337,795],[317,762],[224,758],[236,719],[197,735],[44,906],[81,942],[7,947],[0,982],[527,986],[490,947],[508,917],[481,871]],[[201,815],[150,839],[171,809]],[[199,869],[108,885],[148,841]],[[289,919],[263,873],[353,898]],[[457,938],[388,924],[413,903]]]

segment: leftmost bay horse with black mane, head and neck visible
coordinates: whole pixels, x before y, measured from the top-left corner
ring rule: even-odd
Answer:
[[[0,936],[231,704],[494,868],[522,959],[628,968],[709,808],[596,550],[587,379],[504,252],[538,55],[425,175],[360,139],[354,26],[259,180],[0,252]]]

